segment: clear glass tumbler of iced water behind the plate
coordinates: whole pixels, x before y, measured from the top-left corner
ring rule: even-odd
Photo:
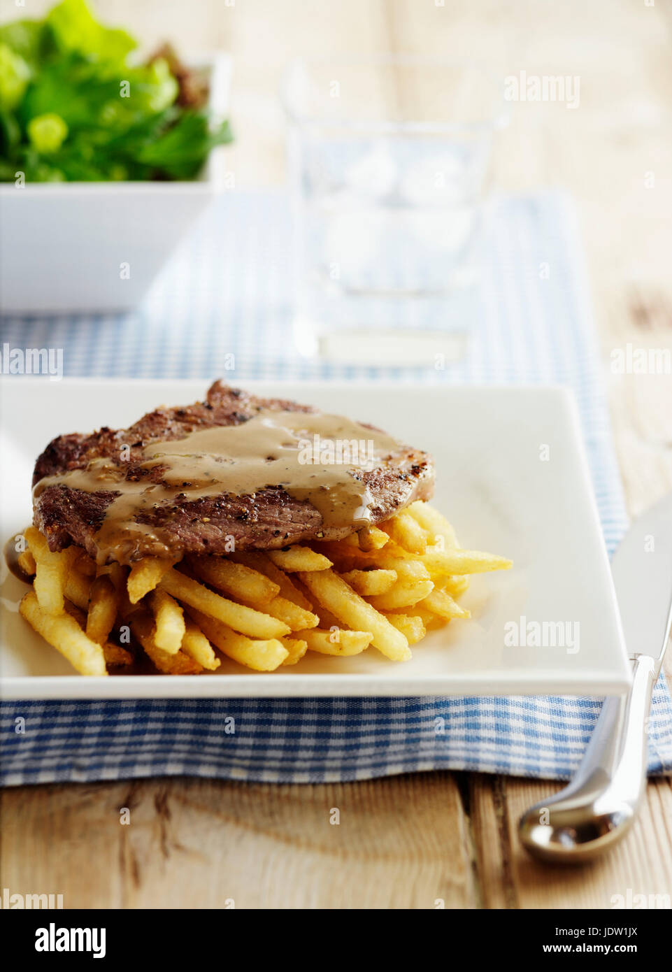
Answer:
[[[283,95],[301,354],[460,357],[503,89],[464,61],[391,55],[295,61]]]

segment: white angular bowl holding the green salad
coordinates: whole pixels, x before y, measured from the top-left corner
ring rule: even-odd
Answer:
[[[230,58],[218,55],[206,66],[209,106],[221,119],[229,106]],[[214,198],[222,152],[210,153],[193,182],[0,184],[0,312],[137,306]]]

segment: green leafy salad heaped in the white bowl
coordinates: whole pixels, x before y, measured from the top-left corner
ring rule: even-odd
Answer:
[[[136,46],[84,0],[1,26],[0,181],[194,179],[229,123],[209,119],[204,75]]]

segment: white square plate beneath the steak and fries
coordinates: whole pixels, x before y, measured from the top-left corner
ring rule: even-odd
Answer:
[[[3,538],[30,521],[33,464],[54,435],[123,428],[161,403],[202,398],[206,387],[205,381],[2,379]],[[369,649],[353,658],[306,656],[270,674],[225,659],[216,675],[85,678],[20,618],[25,587],[3,559],[4,698],[604,695],[627,688],[619,612],[567,391],[309,382],[245,387],[371,422],[427,449],[437,465],[434,503],[455,525],[462,545],[511,557],[513,570],[473,578],[463,599],[472,619],[432,632],[403,664]],[[521,619],[524,625],[569,624],[571,643],[509,646],[506,626],[520,628]]]

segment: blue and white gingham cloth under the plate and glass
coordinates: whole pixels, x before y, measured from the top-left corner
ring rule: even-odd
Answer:
[[[284,195],[230,193],[139,312],[5,319],[0,340],[63,347],[67,375],[202,378],[204,388],[225,374],[230,353],[235,371],[226,375],[240,383],[324,377],[567,384],[579,403],[605,540],[614,549],[626,519],[580,237],[566,199],[548,192],[499,200],[469,356],[444,371],[298,358],[289,336],[288,238]],[[548,274],[540,276],[542,263]],[[4,702],[0,782],[161,775],[322,782],[435,769],[565,779],[599,710],[599,701],[559,697]],[[18,717],[23,733],[16,732]],[[662,677],[649,745],[650,772],[672,773],[672,702]]]

